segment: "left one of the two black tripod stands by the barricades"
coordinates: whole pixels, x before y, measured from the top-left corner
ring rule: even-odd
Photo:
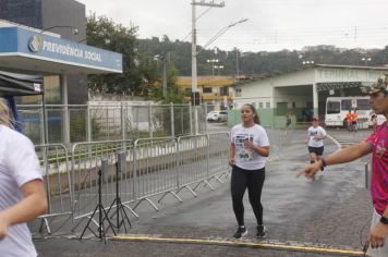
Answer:
[[[101,169],[98,170],[98,204],[95,208],[95,210],[93,211],[89,220],[87,221],[87,224],[85,225],[84,231],[82,232],[81,236],[80,236],[80,241],[82,240],[82,237],[85,234],[85,231],[88,229],[96,237],[102,240],[105,242],[107,242],[107,231],[105,230],[105,225],[104,225],[104,221],[108,220],[108,230],[109,228],[112,229],[113,234],[116,235],[116,232],[113,230],[113,225],[110,222],[109,218],[108,218],[108,212],[104,209],[102,206],[102,194],[101,194],[101,187],[102,187],[102,170],[107,171],[108,170],[108,159],[101,159]],[[105,172],[104,171],[104,172]],[[98,211],[98,235],[95,233],[95,231],[93,231],[89,227],[93,217],[96,215],[96,212]],[[104,218],[102,218],[104,216]]]

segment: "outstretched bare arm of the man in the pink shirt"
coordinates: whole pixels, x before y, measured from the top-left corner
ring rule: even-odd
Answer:
[[[332,166],[332,164],[339,164],[339,163],[344,163],[349,161],[353,161],[355,159],[359,159],[360,157],[363,157],[367,154],[372,152],[372,147],[368,143],[362,142],[352,146],[349,146],[340,151],[337,151],[327,158],[326,164],[327,166]],[[323,161],[316,161],[315,163],[308,166],[305,168],[303,171],[298,173],[298,176],[304,174],[306,178],[314,178],[315,173],[320,170],[320,167],[323,164]]]

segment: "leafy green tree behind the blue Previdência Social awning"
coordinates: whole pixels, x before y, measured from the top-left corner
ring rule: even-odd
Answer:
[[[87,44],[98,48],[122,53],[123,73],[90,75],[88,87],[94,91],[119,95],[147,95],[156,81],[156,70],[149,63],[141,63],[137,53],[138,27],[124,27],[114,24],[106,16],[97,17],[92,13],[87,17]]]

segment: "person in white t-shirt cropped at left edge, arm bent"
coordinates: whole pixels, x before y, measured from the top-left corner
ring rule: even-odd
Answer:
[[[47,199],[34,145],[10,119],[0,99],[0,255],[35,257],[26,222],[46,212]]]

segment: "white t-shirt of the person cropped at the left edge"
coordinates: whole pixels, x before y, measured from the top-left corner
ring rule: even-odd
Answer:
[[[33,143],[21,133],[0,125],[0,211],[23,199],[21,186],[43,180]],[[35,257],[36,249],[26,223],[11,225],[0,241],[0,256]]]

